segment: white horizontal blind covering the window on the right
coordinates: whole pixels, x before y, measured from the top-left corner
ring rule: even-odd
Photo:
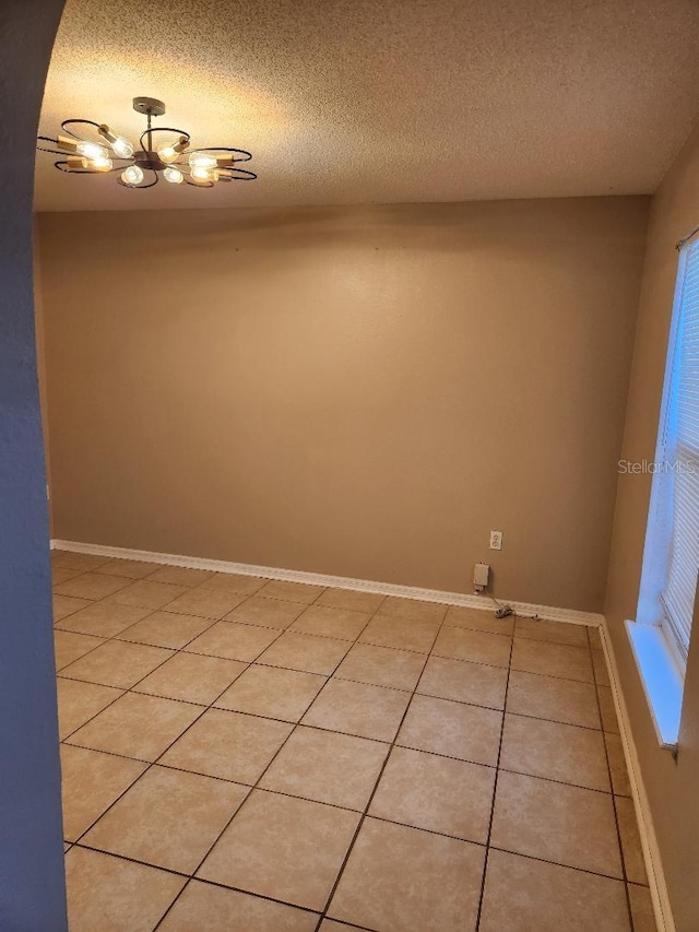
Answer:
[[[686,662],[699,570],[699,243],[680,252],[653,477],[663,618]],[[659,487],[656,487],[659,486]]]

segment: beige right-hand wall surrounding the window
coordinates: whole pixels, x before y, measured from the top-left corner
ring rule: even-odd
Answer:
[[[688,140],[652,203],[633,351],[624,459],[653,460],[677,273],[675,243],[699,225],[699,130]],[[630,654],[625,618],[636,613],[651,480],[623,475],[614,524],[606,616],[620,668],[678,932],[699,929],[699,642],[690,645],[675,763],[657,746]]]

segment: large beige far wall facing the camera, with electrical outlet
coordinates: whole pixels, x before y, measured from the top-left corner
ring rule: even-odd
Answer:
[[[601,610],[647,209],[42,215],[55,535]]]

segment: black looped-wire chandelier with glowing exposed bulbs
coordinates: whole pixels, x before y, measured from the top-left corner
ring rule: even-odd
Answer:
[[[236,164],[252,158],[245,149],[221,145],[194,149],[185,130],[153,127],[153,117],[165,114],[162,101],[134,97],[133,109],[147,120],[138,148],[106,123],[83,119],[63,120],[63,132],[56,139],[38,137],[38,143],[51,143],[55,148],[42,144],[36,148],[39,152],[62,156],[54,163],[59,172],[70,175],[116,173],[118,184],[125,188],[152,188],[161,177],[170,185],[185,182],[197,188],[213,188],[216,181],[257,178],[254,172],[238,168]]]

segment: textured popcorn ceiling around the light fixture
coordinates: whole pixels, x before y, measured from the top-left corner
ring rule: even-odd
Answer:
[[[38,210],[651,192],[699,111],[697,0],[68,0],[40,131],[131,98],[253,153],[212,190],[59,174]],[[157,121],[156,121],[157,125]]]

